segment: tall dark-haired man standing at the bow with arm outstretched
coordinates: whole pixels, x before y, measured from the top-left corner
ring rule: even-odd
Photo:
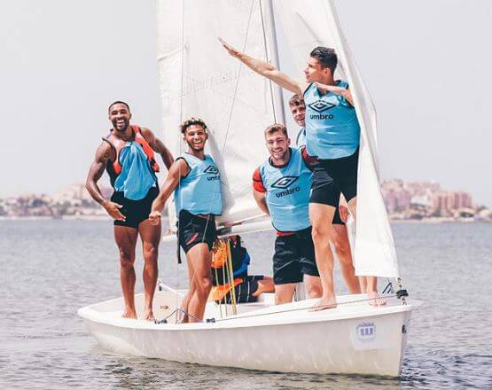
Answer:
[[[314,170],[309,218],[313,226],[316,263],[321,274],[323,297],[318,308],[337,305],[333,285],[333,255],[329,244],[332,219],[339,206],[340,192],[356,217],[357,166],[360,126],[348,82],[335,81],[338,58],[330,48],[318,46],[310,52],[304,69],[305,80],[298,81],[259,58],[242,53],[221,39],[232,57],[285,90],[303,96],[306,103],[306,147],[319,161]],[[367,276],[370,304],[383,305],[379,299],[378,277]]]

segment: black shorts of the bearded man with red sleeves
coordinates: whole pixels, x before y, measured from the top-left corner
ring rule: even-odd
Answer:
[[[275,285],[302,282],[304,274],[319,277],[310,227],[288,236],[278,236],[273,255]]]

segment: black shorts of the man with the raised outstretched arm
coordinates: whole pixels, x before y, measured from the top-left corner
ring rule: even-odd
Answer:
[[[348,157],[317,160],[313,166],[309,203],[339,207],[340,192],[349,201],[357,196],[359,150]]]

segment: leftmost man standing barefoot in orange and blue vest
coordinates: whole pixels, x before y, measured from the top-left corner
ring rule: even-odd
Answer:
[[[114,240],[120,251],[121,290],[125,300],[123,317],[137,318],[135,309],[135,247],[140,235],[144,247],[144,319],[153,320],[152,300],[157,283],[157,256],[160,224],[148,220],[152,200],[159,194],[156,172],[159,165],[154,152],[160,153],[167,168],[173,156],[152,131],[130,125],[129,105],[116,101],[109,108],[113,124],[108,136],[99,145],[90,166],[86,188],[90,195],[114,220]],[[98,188],[98,180],[107,170],[114,192],[107,200]]]

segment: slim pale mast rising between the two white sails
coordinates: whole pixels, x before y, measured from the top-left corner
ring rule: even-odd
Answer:
[[[273,2],[272,0],[263,0],[261,3],[264,5],[265,9],[264,16],[266,28],[263,27],[263,32],[267,42],[267,58],[269,58],[273,66],[279,69],[280,62],[278,60],[277,31],[275,28],[275,16],[273,14]],[[277,122],[285,123],[284,96],[282,94],[282,88],[274,82],[269,82],[269,84],[272,92],[275,118]]]

